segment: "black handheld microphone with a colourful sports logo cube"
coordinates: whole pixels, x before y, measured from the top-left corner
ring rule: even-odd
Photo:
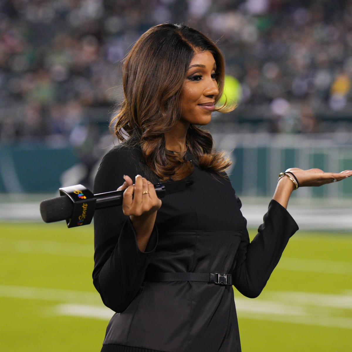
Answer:
[[[183,191],[192,183],[192,180],[157,183],[154,188],[157,196],[163,198]],[[59,192],[59,197],[40,202],[40,215],[47,223],[66,220],[67,227],[90,224],[96,209],[122,205],[124,197],[124,190],[93,194],[81,184],[59,188]]]

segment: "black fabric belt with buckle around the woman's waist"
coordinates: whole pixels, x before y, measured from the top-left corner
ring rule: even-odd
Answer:
[[[231,274],[212,272],[155,272],[147,274],[144,281],[202,281],[220,285],[232,285]]]

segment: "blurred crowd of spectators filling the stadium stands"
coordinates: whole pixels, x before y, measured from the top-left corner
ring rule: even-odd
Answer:
[[[238,108],[215,124],[352,130],[351,1],[2,0],[0,142],[93,143],[101,131],[89,122],[106,132],[122,97],[120,60],[165,21],[207,33],[225,54]]]

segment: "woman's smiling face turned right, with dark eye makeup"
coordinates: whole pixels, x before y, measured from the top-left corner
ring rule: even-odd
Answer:
[[[181,121],[206,125],[219,94],[216,64],[210,51],[196,52],[189,64],[181,95]]]

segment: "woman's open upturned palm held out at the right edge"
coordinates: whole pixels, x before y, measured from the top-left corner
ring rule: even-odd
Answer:
[[[288,171],[292,172],[296,176],[300,187],[318,187],[323,184],[338,182],[352,176],[351,170],[335,173],[324,172],[320,169],[302,170],[298,168],[290,168],[285,172]]]

